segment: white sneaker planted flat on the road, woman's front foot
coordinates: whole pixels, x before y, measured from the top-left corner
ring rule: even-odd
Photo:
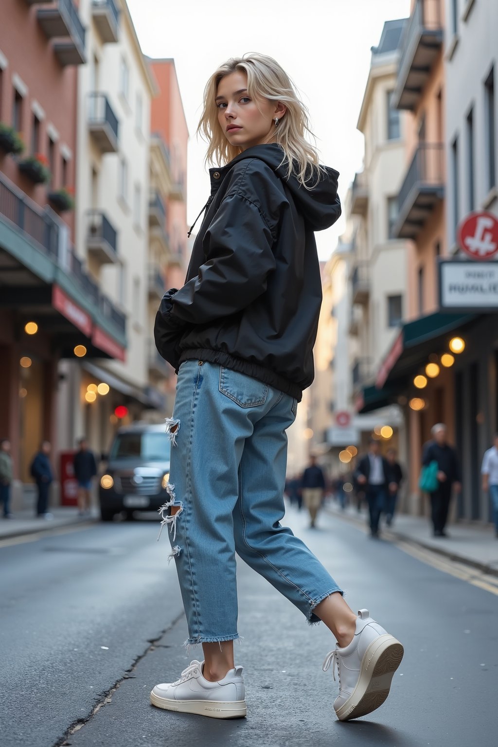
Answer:
[[[230,669],[218,682],[202,676],[204,662],[193,660],[176,682],[156,685],[150,694],[152,705],[181,713],[199,713],[212,719],[240,719],[246,716],[246,693],[242,667]]]

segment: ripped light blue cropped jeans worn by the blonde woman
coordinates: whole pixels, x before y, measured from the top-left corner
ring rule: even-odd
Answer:
[[[162,509],[189,629],[186,645],[237,633],[235,553],[306,616],[342,591],[287,527],[286,429],[296,400],[243,373],[202,361],[178,371],[170,500]],[[172,515],[172,506],[180,507]],[[161,509],[160,509],[161,510]]]

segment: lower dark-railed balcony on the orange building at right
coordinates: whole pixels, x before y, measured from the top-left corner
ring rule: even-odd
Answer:
[[[393,236],[412,241],[425,226],[436,205],[444,197],[444,146],[421,143],[399,190],[398,217]]]

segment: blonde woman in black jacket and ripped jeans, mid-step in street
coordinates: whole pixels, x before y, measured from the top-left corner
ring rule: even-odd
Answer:
[[[155,323],[178,373],[170,500],[162,509],[189,638],[202,644],[152,704],[217,719],[246,716],[234,664],[235,553],[337,639],[339,719],[379,707],[402,645],[367,610],[356,616],[319,560],[287,527],[286,429],[314,378],[322,300],[314,231],[340,216],[337,171],[305,139],[308,117],[272,58],[222,64],[205,88],[199,131],[208,141],[211,196],[185,285],[168,291]],[[204,208],[203,208],[204,209]],[[334,675],[335,676],[335,675]]]

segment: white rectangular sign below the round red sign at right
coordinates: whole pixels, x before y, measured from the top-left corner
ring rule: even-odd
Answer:
[[[439,264],[441,309],[498,309],[498,262],[442,261]]]

